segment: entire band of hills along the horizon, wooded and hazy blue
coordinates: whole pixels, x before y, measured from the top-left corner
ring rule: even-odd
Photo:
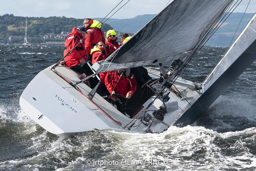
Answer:
[[[129,33],[132,35],[140,30],[141,27],[145,26],[151,19],[153,19],[155,14],[146,14],[136,16],[131,19],[108,19],[103,25],[102,30],[106,33],[109,29],[116,30],[118,34],[119,41],[120,36],[124,33]],[[253,13],[245,13],[244,17],[238,27],[236,28],[243,16],[243,13],[235,12],[232,13],[229,18],[223,23],[223,25],[218,29],[218,31],[212,36],[212,38],[206,43],[209,46],[221,46],[227,47],[231,42],[231,39],[236,32],[233,39],[235,41],[236,37],[243,30],[244,26],[248,23],[249,19],[253,16]],[[101,21],[103,18],[94,18]],[[12,36],[24,36],[25,33],[25,17],[17,17],[12,14],[5,14],[0,16],[0,41],[6,42],[10,35]],[[60,34],[62,31],[71,32],[73,26],[82,25],[83,19],[74,19],[66,17],[29,17],[28,18],[28,37],[29,41],[38,41],[37,38],[42,37],[46,33]],[[34,38],[34,40],[32,38]],[[17,41],[21,41],[17,40]],[[51,41],[58,41],[54,39]],[[63,39],[61,39],[63,41]]]

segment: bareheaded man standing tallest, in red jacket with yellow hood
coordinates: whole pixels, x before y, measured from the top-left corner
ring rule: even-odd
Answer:
[[[84,40],[84,48],[88,54],[90,54],[91,49],[99,41],[105,43],[105,37],[101,28],[101,23],[94,19],[84,19],[84,27],[87,29],[86,39]]]

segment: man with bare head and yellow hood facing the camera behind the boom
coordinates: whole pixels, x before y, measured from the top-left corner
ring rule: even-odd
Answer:
[[[94,46],[94,48],[91,49],[91,55],[92,55],[92,64],[106,59],[107,51],[103,41],[99,41],[98,43],[96,43],[96,46]],[[101,93],[104,93],[104,94],[108,94],[108,90],[105,86],[106,75],[107,75],[107,72],[100,73],[100,80],[101,80],[100,89],[101,89]]]

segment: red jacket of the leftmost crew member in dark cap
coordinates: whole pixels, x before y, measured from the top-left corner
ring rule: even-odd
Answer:
[[[79,42],[82,39],[83,35],[76,30],[76,27],[74,27],[72,32],[68,34],[68,36],[66,37],[65,50],[63,56],[65,56],[68,53],[68,51],[70,51],[78,44],[78,46],[75,49],[73,49],[68,56],[64,58],[67,66],[76,66],[78,63],[80,63],[82,57],[84,57],[85,60],[87,59],[87,53],[84,50],[84,42]]]

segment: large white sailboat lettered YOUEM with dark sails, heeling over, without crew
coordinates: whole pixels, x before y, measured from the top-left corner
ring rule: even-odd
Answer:
[[[20,106],[36,123],[57,136],[94,128],[156,133],[171,125],[193,125],[256,60],[254,14],[202,83],[180,77],[223,22],[232,3],[232,0],[174,0],[106,60],[92,65],[96,75],[159,63],[160,71],[148,69],[148,73],[160,81],[147,86],[150,96],[133,95],[132,101],[139,105],[127,104],[129,116],[96,93],[97,86],[92,89],[84,83],[93,75],[81,78],[81,73],[60,63],[33,78],[20,96]],[[165,71],[163,62],[167,61],[171,65]]]

